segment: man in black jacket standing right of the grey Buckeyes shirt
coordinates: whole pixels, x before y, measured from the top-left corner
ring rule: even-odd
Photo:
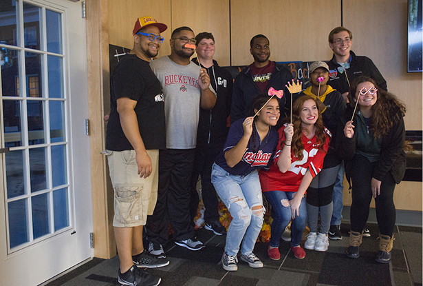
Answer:
[[[202,198],[205,207],[205,228],[217,235],[226,232],[225,227],[219,222],[217,210],[217,194],[211,183],[211,169],[215,156],[221,151],[228,136],[227,119],[230,114],[230,101],[232,99],[233,80],[230,72],[219,67],[213,59],[215,54],[215,38],[209,32],[202,32],[195,37],[197,40],[197,56],[194,63],[206,68],[210,76],[210,84],[217,94],[216,104],[212,110],[199,109],[199,123],[197,131],[197,147],[195,149],[195,163],[191,178],[191,218],[197,214],[199,196],[197,193],[197,180],[201,175]],[[198,62],[199,60],[199,62]]]

